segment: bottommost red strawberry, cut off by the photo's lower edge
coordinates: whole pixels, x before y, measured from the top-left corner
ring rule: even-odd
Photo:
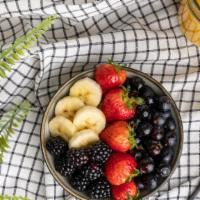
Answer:
[[[123,183],[118,186],[116,185],[112,186],[113,200],[136,199],[137,196],[138,196],[138,189],[133,181],[128,183]]]

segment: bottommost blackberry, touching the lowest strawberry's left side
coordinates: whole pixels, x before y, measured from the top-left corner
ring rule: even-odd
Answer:
[[[104,199],[111,197],[111,189],[105,178],[97,179],[88,187],[88,195],[91,199]]]

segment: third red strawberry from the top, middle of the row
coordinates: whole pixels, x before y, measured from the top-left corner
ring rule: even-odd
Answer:
[[[136,145],[133,132],[126,121],[116,121],[109,125],[101,132],[100,139],[113,150],[121,152],[126,152]]]

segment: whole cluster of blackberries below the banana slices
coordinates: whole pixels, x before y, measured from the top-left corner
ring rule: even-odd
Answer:
[[[68,150],[63,139],[50,137],[46,146],[54,156],[55,169],[62,176],[68,177],[76,190],[86,192],[93,199],[111,196],[110,185],[104,178],[103,165],[112,150],[105,143],[99,141],[87,149]]]

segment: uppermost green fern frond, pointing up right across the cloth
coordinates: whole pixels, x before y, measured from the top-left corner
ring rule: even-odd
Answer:
[[[12,65],[25,55],[37,40],[51,27],[57,16],[49,16],[24,36],[17,38],[13,44],[0,54],[0,77],[5,78],[6,72],[12,70]]]

